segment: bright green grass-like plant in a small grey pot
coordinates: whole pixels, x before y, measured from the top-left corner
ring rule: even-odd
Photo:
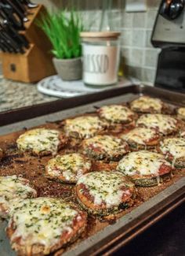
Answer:
[[[38,26],[52,43],[53,64],[62,80],[82,79],[82,18],[71,10],[45,13]]]

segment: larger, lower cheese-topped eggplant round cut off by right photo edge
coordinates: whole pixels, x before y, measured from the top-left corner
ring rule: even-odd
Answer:
[[[185,138],[166,138],[161,141],[158,150],[176,168],[185,168]]]

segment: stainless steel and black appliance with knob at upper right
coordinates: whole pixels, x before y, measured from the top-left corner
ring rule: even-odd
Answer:
[[[185,92],[185,0],[162,0],[151,43],[160,47],[155,85]]]

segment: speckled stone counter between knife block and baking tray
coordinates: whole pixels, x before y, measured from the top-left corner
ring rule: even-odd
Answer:
[[[0,76],[0,112],[55,101],[56,97],[42,95],[36,84],[18,83]]]

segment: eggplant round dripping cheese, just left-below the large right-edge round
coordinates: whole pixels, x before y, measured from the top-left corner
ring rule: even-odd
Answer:
[[[170,176],[172,166],[162,154],[140,150],[122,158],[117,171],[129,176],[137,186],[151,187],[158,185],[161,177]]]

